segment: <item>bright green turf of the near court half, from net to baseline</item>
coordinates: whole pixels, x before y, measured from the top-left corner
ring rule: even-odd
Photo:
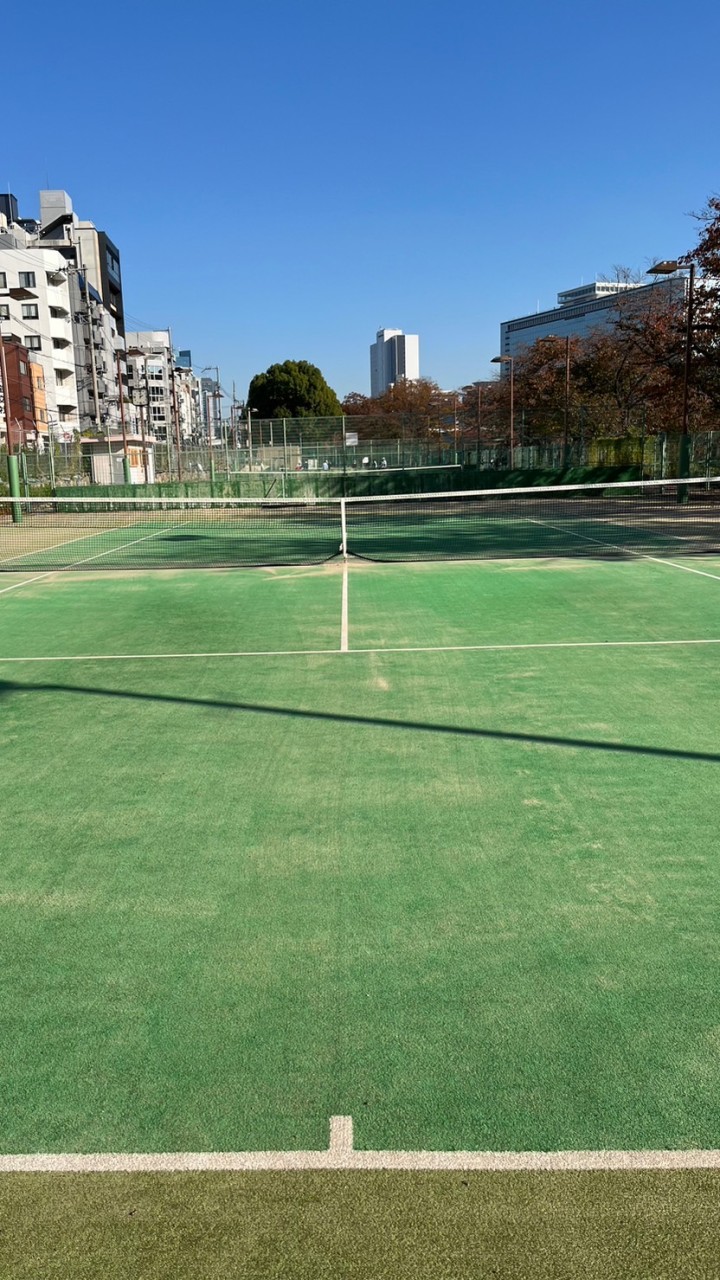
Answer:
[[[583,500],[482,561],[423,512],[401,563],[348,508],[254,568],[143,568],[136,512],[60,573],[77,525],[3,526],[1,1167],[325,1155],[331,1117],[329,1167],[712,1164],[720,508]]]

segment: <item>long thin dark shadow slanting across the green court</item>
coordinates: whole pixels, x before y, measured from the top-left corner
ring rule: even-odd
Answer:
[[[128,689],[95,689],[87,685],[15,684],[0,680],[0,698],[27,692],[81,694],[91,698],[119,698],[140,703],[167,703],[177,707],[204,707],[209,710],[243,712],[255,716],[284,716],[288,719],[327,721],[334,724],[372,728],[410,730],[419,733],[450,733],[455,737],[479,737],[498,742],[534,742],[539,746],[582,748],[589,751],[616,751],[624,755],[653,755],[671,760],[701,760],[720,764],[720,754],[712,751],[683,751],[670,746],[642,746],[632,742],[602,742],[584,737],[560,737],[546,733],[518,733],[493,728],[473,728],[464,724],[433,724],[427,721],[398,721],[384,716],[348,716],[342,712],[301,710],[293,707],[266,707],[261,703],[234,703],[211,698],[183,698],[176,694],[146,694]]]

